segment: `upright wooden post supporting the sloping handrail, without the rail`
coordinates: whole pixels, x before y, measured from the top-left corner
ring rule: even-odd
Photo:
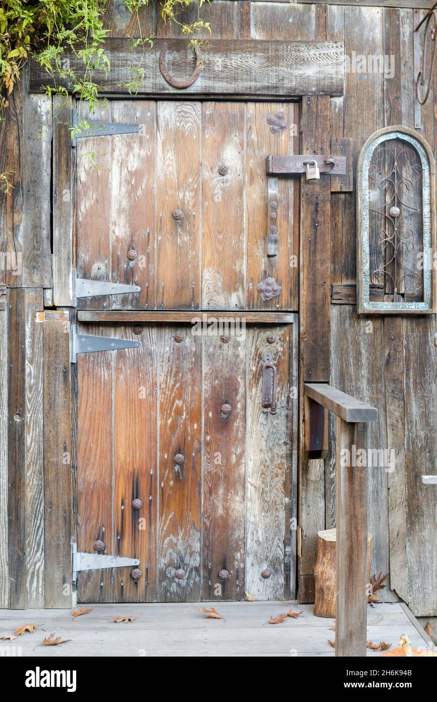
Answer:
[[[354,446],[356,451],[368,449],[368,424],[337,416],[335,656],[366,655],[368,468],[351,465]]]

